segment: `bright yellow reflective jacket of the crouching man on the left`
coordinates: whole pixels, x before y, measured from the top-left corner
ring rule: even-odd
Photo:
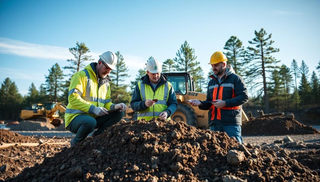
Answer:
[[[110,99],[110,87],[106,82],[99,85],[98,78],[91,65],[75,73],[70,81],[68,106],[65,114],[65,126],[79,114],[97,117],[93,113],[94,106],[110,110],[113,105]]]

